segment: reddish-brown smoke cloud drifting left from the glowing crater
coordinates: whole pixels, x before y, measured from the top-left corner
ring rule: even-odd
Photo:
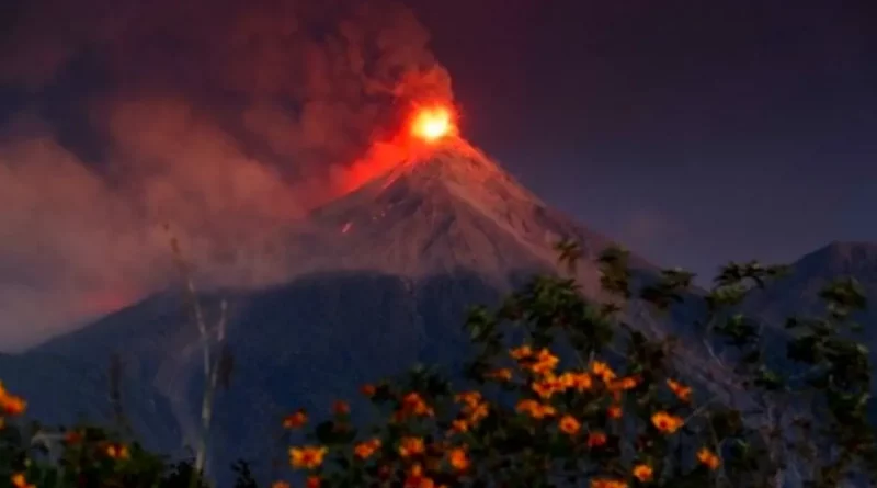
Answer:
[[[293,224],[405,107],[452,99],[390,1],[2,9],[0,105],[29,106],[0,127],[0,349],[166,286],[171,235],[209,285],[288,277]]]

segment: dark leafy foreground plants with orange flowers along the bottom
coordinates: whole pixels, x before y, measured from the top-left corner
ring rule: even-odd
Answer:
[[[562,242],[558,251],[569,276],[538,276],[498,309],[472,311],[472,358],[454,377],[456,388],[419,367],[363,386],[376,407],[372,425],[355,424],[344,401],[316,425],[308,412],[291,411],[282,425],[289,478],[267,486],[876,485],[872,368],[852,320],[865,298],[855,282],[822,293],[823,317],[789,318],[786,358],[776,359],[765,354],[776,343],[737,307],[781,268],[725,266],[703,297],[706,314],[695,326],[706,339],[695,344],[647,337],[623,314],[633,298],[656,313],[694,299],[691,274],[668,270],[633,290],[627,254],[608,249],[599,260],[606,299],[590,302],[572,277],[577,246]],[[685,364],[692,356],[679,348],[693,347],[720,377],[706,382]],[[205,350],[208,386],[220,359],[212,363]],[[0,487],[207,486],[200,475],[206,441],[193,461],[174,463],[102,429],[25,425],[25,407],[0,389]],[[236,470],[237,488],[257,487],[246,464]]]

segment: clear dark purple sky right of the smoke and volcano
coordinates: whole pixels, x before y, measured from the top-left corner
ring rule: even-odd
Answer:
[[[453,5],[469,7],[466,15]],[[465,132],[548,202],[710,275],[877,241],[877,5],[422,2]]]

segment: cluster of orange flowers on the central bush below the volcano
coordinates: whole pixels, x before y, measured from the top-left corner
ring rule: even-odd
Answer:
[[[619,374],[599,360],[562,371],[560,359],[550,350],[527,344],[511,349],[508,358],[513,362],[512,367],[489,368],[483,378],[488,385],[492,382],[516,393],[511,409],[505,401],[489,400],[487,389],[448,394],[448,405],[456,407],[440,410],[435,402],[443,401],[441,395],[428,398],[423,391],[394,393],[386,385],[380,388],[365,385],[362,393],[372,401],[380,404],[395,398],[386,423],[376,434],[350,445],[296,445],[289,449],[289,463],[308,473],[306,485],[309,488],[333,486],[335,479],[352,479],[343,478],[345,475],[355,475],[358,480],[396,480],[405,488],[463,486],[490,476],[490,459],[498,455],[496,450],[491,452],[497,447],[491,443],[503,439],[491,429],[499,429],[497,425],[516,429],[515,422],[520,421],[514,419],[517,418],[531,422],[523,424],[522,432],[533,435],[534,443],[543,442],[539,435],[548,435],[545,439],[549,440],[557,435],[557,441],[550,442],[566,438],[566,443],[558,445],[565,445],[574,458],[597,467],[596,474],[586,478],[591,488],[626,488],[631,484],[652,483],[660,476],[660,459],[649,455],[648,450],[633,462],[625,462],[629,464],[623,470],[618,469],[620,457],[617,454],[619,436],[625,432],[617,420],[627,410],[626,397],[640,390],[643,396],[648,395],[653,381],[647,384],[642,375]],[[691,402],[692,389],[682,382],[667,378],[662,388],[680,405]],[[630,401],[636,405],[635,400]],[[594,417],[594,408],[603,411],[605,420]],[[337,419],[346,419],[349,406],[337,402],[333,412]],[[491,420],[483,430],[480,425],[487,419]],[[307,420],[304,410],[298,410],[286,417],[283,425],[297,429]],[[641,421],[643,428],[650,425],[658,436],[676,435],[685,424],[685,419],[664,409],[648,412]],[[333,431],[345,429],[343,422],[332,424]],[[504,449],[506,455],[526,451],[526,442],[521,439],[517,442],[521,443],[519,447]],[[653,443],[648,441],[641,445]],[[702,447],[696,457],[707,472],[721,465],[719,455],[707,447]],[[610,463],[614,468],[601,470],[601,463]],[[274,485],[274,488],[287,487],[286,481]]]

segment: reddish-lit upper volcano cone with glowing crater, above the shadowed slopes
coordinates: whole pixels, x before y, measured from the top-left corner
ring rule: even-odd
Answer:
[[[421,109],[409,127],[405,135],[415,140],[398,159],[312,212],[305,269],[412,277],[468,271],[503,282],[512,271],[556,269],[561,238],[580,241],[588,256],[608,245],[459,137],[449,109]],[[599,273],[583,268],[585,286],[595,285]]]

